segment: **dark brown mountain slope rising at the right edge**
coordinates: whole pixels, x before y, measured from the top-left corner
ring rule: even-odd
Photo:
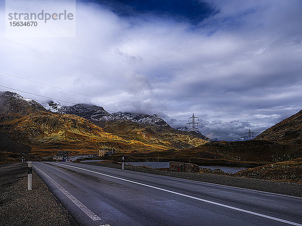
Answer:
[[[302,147],[302,110],[265,130],[255,139]]]

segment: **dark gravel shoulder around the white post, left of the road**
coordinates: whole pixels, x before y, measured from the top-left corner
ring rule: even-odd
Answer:
[[[79,225],[34,171],[27,190],[27,164],[1,164],[0,177],[0,225]]]

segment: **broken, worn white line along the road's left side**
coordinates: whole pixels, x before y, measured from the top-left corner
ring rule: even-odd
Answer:
[[[66,195],[75,205],[77,205],[83,212],[86,213],[87,216],[89,216],[92,220],[101,220],[99,216],[97,216],[93,211],[91,211],[86,205],[84,205],[82,202],[80,202],[77,198],[75,198],[73,195],[71,195],[68,191],[66,191],[61,185],[59,185],[57,182],[55,182],[51,177],[49,177],[46,173],[44,173],[42,170],[40,170],[38,167],[35,167],[37,170],[39,170],[42,174],[44,174],[51,183],[54,184],[64,195]]]

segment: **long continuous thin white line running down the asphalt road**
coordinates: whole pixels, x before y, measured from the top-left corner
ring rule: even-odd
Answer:
[[[264,217],[264,218],[280,221],[280,222],[283,222],[283,223],[288,223],[288,224],[296,225],[296,226],[302,226],[302,224],[300,224],[300,223],[295,223],[295,222],[292,222],[292,221],[280,219],[280,218],[273,217],[273,216],[268,216],[268,215],[265,215],[265,214],[249,211],[249,210],[246,210],[246,209],[237,208],[237,207],[230,206],[230,205],[224,205],[224,204],[221,204],[221,203],[218,203],[218,202],[213,202],[213,201],[209,201],[209,200],[206,200],[206,199],[197,198],[197,197],[194,197],[194,196],[191,196],[191,195],[186,195],[186,194],[182,194],[182,193],[179,193],[179,192],[175,192],[175,191],[171,191],[171,190],[167,190],[167,189],[163,189],[163,188],[158,188],[158,187],[155,187],[155,186],[142,184],[142,183],[139,183],[139,182],[130,181],[130,180],[119,178],[119,177],[114,177],[114,176],[111,176],[111,175],[95,172],[95,171],[92,171],[92,170],[86,170],[86,169],[83,169],[83,168],[69,166],[69,165],[65,165],[65,164],[59,164],[59,163],[54,163],[54,164],[63,165],[63,166],[66,166],[66,167],[72,167],[72,168],[75,168],[75,169],[84,170],[84,171],[88,171],[88,172],[95,173],[95,174],[100,174],[100,175],[103,175],[103,176],[106,176],[106,177],[111,177],[111,178],[115,178],[115,179],[118,179],[118,180],[127,181],[127,182],[130,182],[130,183],[133,183],[133,184],[138,184],[138,185],[142,185],[142,186],[145,186],[145,187],[158,189],[158,190],[161,190],[161,191],[166,191],[166,192],[173,193],[173,194],[176,194],[176,195],[181,195],[181,196],[192,198],[192,199],[199,200],[199,201],[202,201],[202,202],[207,202],[207,203],[211,203],[211,204],[214,204],[214,205],[223,206],[225,208],[234,209],[234,210],[238,210],[238,211],[245,212],[245,213],[250,213],[250,214],[253,214],[253,215],[257,215],[257,216],[261,216],[261,217]]]

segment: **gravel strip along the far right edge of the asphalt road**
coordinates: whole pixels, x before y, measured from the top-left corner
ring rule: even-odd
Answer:
[[[113,163],[82,163],[88,165],[104,166],[121,169],[122,166]],[[145,167],[134,167],[125,166],[125,170],[156,174],[161,176],[182,178],[187,180],[201,181],[213,184],[220,184],[244,189],[252,189],[263,192],[271,192],[282,195],[290,195],[296,197],[302,197],[302,184],[289,183],[289,182],[279,182],[279,181],[269,181],[269,180],[259,180],[252,178],[228,176],[228,175],[218,175],[209,173],[184,173],[184,172],[170,172],[162,171]]]

